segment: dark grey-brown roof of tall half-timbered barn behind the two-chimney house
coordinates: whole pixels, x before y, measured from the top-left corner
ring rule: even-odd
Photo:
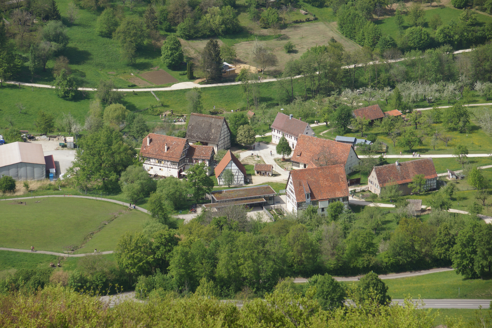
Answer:
[[[223,116],[191,113],[188,128],[186,129],[186,138],[188,140],[217,144],[224,121],[225,118]],[[227,121],[225,122],[227,124]],[[229,129],[228,125],[227,129]]]

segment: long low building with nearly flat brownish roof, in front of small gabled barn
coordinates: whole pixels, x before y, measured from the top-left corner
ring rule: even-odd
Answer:
[[[212,203],[205,208],[232,205],[247,205],[248,207],[272,205],[277,192],[268,185],[244,187],[228,190],[212,191]]]

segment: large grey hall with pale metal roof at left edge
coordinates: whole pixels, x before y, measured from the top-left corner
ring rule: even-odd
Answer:
[[[43,180],[46,162],[43,147],[38,143],[12,142],[0,147],[0,177],[16,180]]]

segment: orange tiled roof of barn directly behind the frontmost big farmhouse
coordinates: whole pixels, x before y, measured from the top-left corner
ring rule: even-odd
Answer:
[[[297,139],[290,160],[305,164],[312,163],[313,165],[310,164],[309,167],[345,165],[351,148],[352,145],[347,143],[301,135]]]

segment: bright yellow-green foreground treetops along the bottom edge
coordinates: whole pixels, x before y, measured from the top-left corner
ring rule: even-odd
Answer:
[[[405,306],[388,306],[369,299],[357,303],[358,306],[323,309],[314,296],[318,292],[316,287],[306,295],[296,294],[292,289],[279,289],[266,295],[265,300],[246,301],[241,307],[207,297],[210,294],[206,291],[188,298],[154,295],[145,302],[124,301],[110,307],[87,294],[50,287],[36,294],[1,295],[0,325],[4,328],[396,328],[437,325],[436,314],[417,309],[411,301],[405,301]],[[330,289],[323,292],[328,294]],[[487,320],[489,314],[489,311],[478,311],[477,318],[470,323],[448,317],[443,322],[449,328],[484,327],[481,320]]]

